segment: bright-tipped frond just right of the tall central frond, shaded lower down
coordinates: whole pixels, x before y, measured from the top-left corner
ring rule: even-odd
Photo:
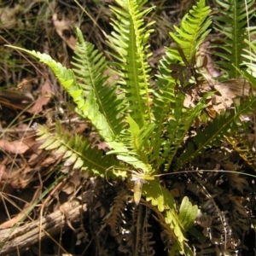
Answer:
[[[211,24],[211,20],[207,18],[209,13],[210,9],[205,6],[205,1],[198,2],[190,11],[189,15],[184,17],[181,29],[176,27],[177,35],[170,33],[172,38],[174,38],[177,44],[182,48],[184,57],[189,62],[191,62],[193,57],[195,57],[196,50],[206,38],[207,33],[210,32],[210,30],[207,30],[207,27]],[[173,58],[175,61],[183,62],[183,57],[177,49],[166,48],[166,57],[160,61],[160,75],[156,80],[158,90],[154,92],[153,111],[156,123],[154,131],[156,136],[153,143],[154,154],[151,156],[151,159],[158,159],[158,165],[163,161],[159,158],[161,144],[164,143],[164,141],[160,139],[160,136],[162,131],[166,129],[166,124],[169,123],[169,125],[167,125],[169,127],[168,129],[170,130],[172,127],[172,131],[168,131],[169,143],[166,143],[165,145],[166,153],[163,155],[164,158],[169,154],[168,151],[171,150],[171,143],[177,145],[177,143],[182,142],[183,136],[187,132],[186,129],[183,129],[183,136],[180,137],[180,133],[178,131],[178,120],[182,120],[182,125],[184,123],[188,123],[186,119],[183,119],[185,114],[181,116],[181,113],[183,113],[184,96],[182,93],[175,93],[176,81],[172,78],[172,70],[170,68],[170,63],[173,62]],[[187,112],[187,110],[184,110],[184,112]],[[196,112],[197,110],[195,110],[195,113]],[[194,115],[192,116],[195,117]],[[191,124],[190,122],[191,120],[189,119],[189,124]],[[175,129],[172,124],[175,124]],[[189,125],[187,127],[189,127]],[[174,137],[177,137],[177,133],[179,134],[180,141],[174,143]],[[169,158],[169,163],[171,163],[173,155],[176,153],[176,149],[172,148],[173,154]],[[166,166],[168,168],[169,164]]]

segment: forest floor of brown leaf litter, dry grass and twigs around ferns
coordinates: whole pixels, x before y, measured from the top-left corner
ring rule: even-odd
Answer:
[[[195,3],[177,2],[148,3],[156,6],[147,20],[156,21],[150,38],[152,75],[157,73],[164,47],[172,45],[169,32],[174,31],[173,26],[180,24]],[[160,224],[146,207],[135,209],[128,201],[122,212],[126,223],[119,228],[122,236],[115,236],[109,228],[113,201],[117,195],[131,195],[124,183],[110,184],[87,173],[73,172],[71,166],[63,166],[61,157],[40,149],[37,141],[36,124],[54,129],[59,119],[63,131],[82,134],[90,138],[93,147],[105,149],[90,125],[74,113],[72,101],[49,68],[5,46],[35,49],[71,67],[76,44],[73,27],[79,26],[84,38],[111,58],[104,33],[111,32],[108,5],[113,1],[81,0],[79,3],[90,16],[73,0],[0,1],[0,254],[132,255],[135,241],[125,232],[142,225],[138,223],[141,216],[147,219],[153,249],[151,253],[139,255],[167,255]],[[212,3],[211,6],[214,8]],[[217,36],[212,33],[201,51],[210,52],[211,37]],[[211,59],[211,53],[209,56]],[[209,70],[212,77],[218,76],[219,71],[211,63]],[[232,99],[232,92],[224,92],[222,85],[216,85],[222,96]],[[219,103],[218,108],[221,106]],[[207,111],[214,115],[216,109]],[[253,123],[249,139],[254,140]],[[254,167],[244,165],[236,152],[228,154],[228,158],[224,156],[224,152],[231,150],[227,144],[222,148],[224,151],[212,148],[195,166],[255,173]],[[188,195],[205,212],[204,223],[198,228],[203,236],[197,240],[189,236],[190,244],[199,252],[196,255],[255,255],[254,177],[187,172],[166,177],[165,183],[177,202]]]

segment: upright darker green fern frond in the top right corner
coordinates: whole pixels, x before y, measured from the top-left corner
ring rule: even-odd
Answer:
[[[250,20],[255,12],[253,8],[254,0],[216,0],[218,3],[218,14],[213,16],[214,25],[218,32],[224,35],[222,44],[217,46],[224,49],[215,54],[224,58],[224,61],[216,61],[222,67],[228,77],[237,79],[240,75],[236,67],[241,66],[243,50],[247,47],[245,39],[247,38],[247,20]]]

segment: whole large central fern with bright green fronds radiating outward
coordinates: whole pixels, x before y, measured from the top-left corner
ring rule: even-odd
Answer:
[[[203,96],[195,108],[183,106],[183,88],[195,73],[186,73],[182,68],[179,77],[172,74],[173,64],[193,67],[193,60],[200,44],[210,32],[210,9],[205,0],[199,0],[171,37],[177,47],[166,48],[166,56],[160,61],[160,74],[150,77],[148,65],[148,38],[153,31],[153,22],[145,24],[144,18],[153,9],[143,9],[142,0],[116,0],[111,6],[113,32],[108,45],[113,50],[114,62],[108,62],[95,47],[84,41],[77,29],[78,43],[73,68],[68,69],[55,62],[49,55],[23,49],[47,64],[59,79],[67,93],[73,97],[76,112],[82,119],[90,120],[110,151],[103,155],[84,137],[61,133],[56,125],[54,134],[38,125],[38,140],[45,140],[41,148],[56,149],[63,154],[66,165],[73,165],[104,177],[128,177],[133,182],[134,201],[140,203],[143,195],[154,211],[170,230],[173,244],[171,255],[177,251],[193,255],[185,238],[193,225],[197,207],[192,207],[187,197],[183,198],[179,211],[168,191],[160,184],[160,173],[171,172],[175,162],[178,171],[189,160],[218,143],[227,134],[237,130],[237,120],[242,113],[255,107],[255,100],[245,103],[236,113],[222,113],[209,124],[205,134],[198,131],[195,145],[190,145],[182,156],[177,149],[195,119],[206,108],[207,97]],[[118,75],[110,83],[104,76],[107,69]],[[185,77],[185,79],[184,79]],[[183,82],[186,82],[183,84]],[[177,84],[181,86],[177,86]],[[109,172],[107,172],[109,171]]]

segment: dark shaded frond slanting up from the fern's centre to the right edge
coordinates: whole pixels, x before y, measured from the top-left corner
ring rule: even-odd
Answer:
[[[242,102],[236,109],[230,109],[227,113],[220,113],[213,119],[212,124],[208,124],[204,130],[198,130],[194,137],[194,143],[189,143],[185,152],[177,159],[175,170],[179,170],[189,160],[195,159],[199,154],[203,153],[207,148],[213,145],[218,146],[224,139],[224,136],[230,136],[238,131],[241,125],[240,117],[242,114],[252,113],[256,108],[256,99],[248,98],[246,102]]]

